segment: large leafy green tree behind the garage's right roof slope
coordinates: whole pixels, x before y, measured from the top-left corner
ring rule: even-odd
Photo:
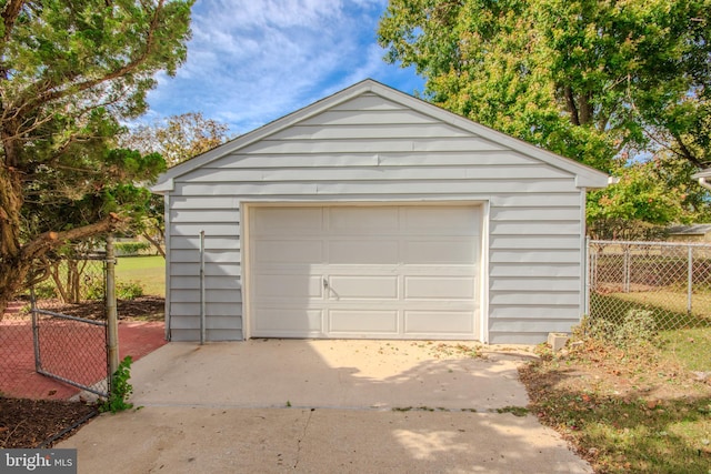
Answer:
[[[387,60],[434,103],[603,171],[711,164],[711,0],[391,0]]]

